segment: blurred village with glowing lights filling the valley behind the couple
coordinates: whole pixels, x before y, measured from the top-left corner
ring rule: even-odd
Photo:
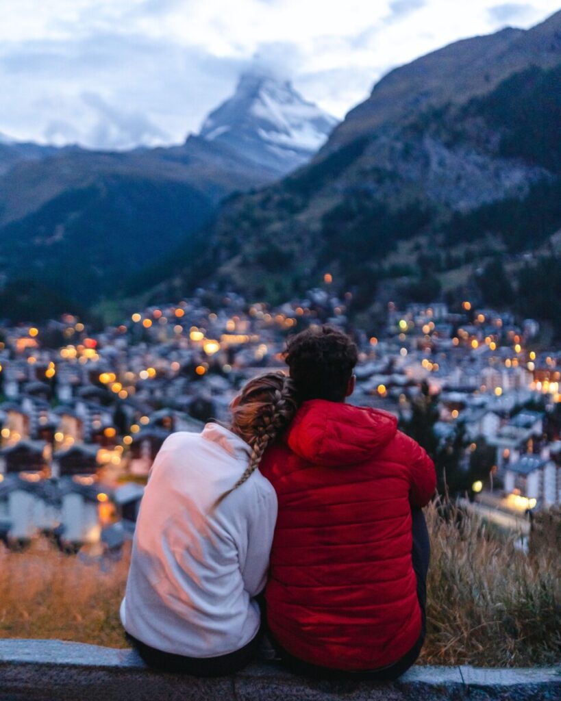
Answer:
[[[245,381],[285,369],[289,334],[329,323],[358,344],[350,401],[393,412],[417,440],[430,433],[441,493],[525,547],[532,515],[561,494],[561,353],[541,347],[539,323],[468,300],[390,302],[371,336],[331,283],[277,308],[197,290],[102,332],[73,315],[1,326],[1,540],[119,552],[165,437],[227,421]]]

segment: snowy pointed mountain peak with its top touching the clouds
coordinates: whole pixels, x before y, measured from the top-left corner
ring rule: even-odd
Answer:
[[[227,144],[285,175],[309,161],[336,124],[334,117],[304,100],[290,81],[246,73],[236,93],[206,118],[201,137]]]

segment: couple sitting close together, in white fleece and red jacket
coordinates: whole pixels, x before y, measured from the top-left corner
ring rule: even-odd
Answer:
[[[435,470],[393,415],[345,404],[356,361],[349,336],[306,330],[290,378],[250,380],[229,428],[165,440],[121,605],[149,665],[231,674],[263,641],[314,676],[396,679],[417,659]]]

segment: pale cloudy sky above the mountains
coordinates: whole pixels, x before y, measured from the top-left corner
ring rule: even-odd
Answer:
[[[559,0],[0,0],[0,132],[130,148],[182,142],[252,67],[342,118],[397,65],[527,28]]]

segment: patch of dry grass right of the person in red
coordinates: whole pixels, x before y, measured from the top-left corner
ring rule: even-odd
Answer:
[[[427,510],[432,560],[422,662],[485,667],[561,660],[559,543],[532,557],[475,517]],[[457,523],[461,521],[461,527]]]

